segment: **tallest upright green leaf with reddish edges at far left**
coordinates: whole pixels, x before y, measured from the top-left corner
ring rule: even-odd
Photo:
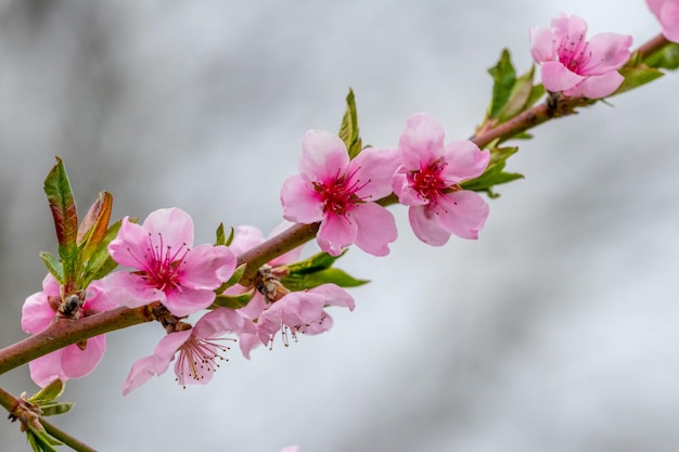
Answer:
[[[73,288],[76,277],[78,212],[68,175],[61,158],[56,157],[56,165],[44,179],[43,188],[54,219],[59,257],[64,268],[64,285],[68,292]]]

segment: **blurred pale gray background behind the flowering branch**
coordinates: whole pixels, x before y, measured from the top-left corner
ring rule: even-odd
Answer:
[[[659,26],[642,0],[0,1],[0,345],[55,250],[42,181],[64,158],[82,210],[193,215],[268,233],[302,137],[336,131],[353,87],[366,143],[426,112],[472,134],[502,47],[564,11],[592,33]],[[679,449],[679,77],[535,130],[478,242],[418,242],[406,209],[387,258],[331,333],[238,349],[213,383],[171,371],[123,398],[155,324],[108,335],[55,422],[102,451],[676,451]],[[312,247],[309,247],[312,250]],[[2,375],[20,393],[27,367]],[[0,424],[3,451],[27,450]]]

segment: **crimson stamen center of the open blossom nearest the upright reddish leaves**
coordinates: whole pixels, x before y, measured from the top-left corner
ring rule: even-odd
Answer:
[[[163,245],[163,235],[158,233],[161,243],[154,245],[149,234],[149,247],[144,254],[143,270],[137,272],[144,281],[158,290],[167,292],[181,286],[182,264],[190,249],[182,244],[178,249]]]

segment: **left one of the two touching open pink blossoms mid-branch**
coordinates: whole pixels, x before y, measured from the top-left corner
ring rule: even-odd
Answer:
[[[281,189],[283,216],[297,223],[320,221],[318,244],[337,256],[356,244],[374,256],[386,256],[397,236],[392,214],[375,201],[387,196],[396,168],[395,153],[366,148],[349,160],[335,134],[311,130],[303,141],[299,175]]]

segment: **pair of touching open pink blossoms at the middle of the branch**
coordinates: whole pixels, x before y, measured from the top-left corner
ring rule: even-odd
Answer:
[[[374,256],[396,240],[394,217],[376,204],[395,193],[409,207],[412,229],[422,242],[440,246],[451,234],[477,238],[488,205],[461,182],[481,176],[490,153],[471,141],[444,144],[444,130],[432,117],[408,119],[398,148],[366,148],[349,160],[346,146],[325,131],[307,132],[299,175],[285,181],[285,219],[320,221],[318,244],[336,256],[356,244]]]

